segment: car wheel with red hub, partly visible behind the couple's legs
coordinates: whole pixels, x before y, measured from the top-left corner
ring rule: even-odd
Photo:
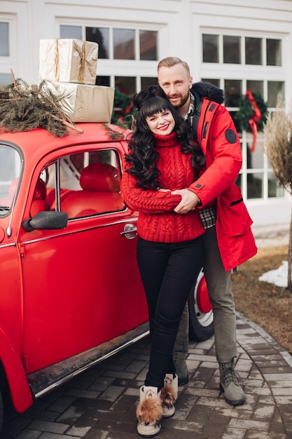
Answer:
[[[195,288],[188,298],[189,336],[196,342],[203,342],[214,335],[213,311],[209,301],[207,283],[201,269]]]

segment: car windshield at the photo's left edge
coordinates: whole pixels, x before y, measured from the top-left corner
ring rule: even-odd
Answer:
[[[21,158],[18,151],[0,144],[0,216],[11,209],[20,176]]]

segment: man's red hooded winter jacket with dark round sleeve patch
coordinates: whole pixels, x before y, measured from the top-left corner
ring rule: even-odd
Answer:
[[[200,94],[202,90],[197,84],[191,92],[196,102],[197,141],[206,155],[207,169],[188,189],[200,198],[202,208],[212,201],[216,203],[218,247],[228,271],[257,252],[251,232],[252,220],[235,184],[242,166],[240,141],[228,110]]]

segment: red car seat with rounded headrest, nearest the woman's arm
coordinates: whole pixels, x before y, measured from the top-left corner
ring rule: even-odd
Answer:
[[[123,210],[118,171],[108,163],[91,163],[80,177],[82,191],[70,191],[61,200],[61,210],[69,218]]]

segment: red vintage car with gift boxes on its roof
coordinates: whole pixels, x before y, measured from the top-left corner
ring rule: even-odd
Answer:
[[[148,334],[137,212],[120,194],[127,132],[78,126],[0,133],[0,424],[7,393],[23,412]],[[203,276],[189,304],[190,334],[209,338]]]

